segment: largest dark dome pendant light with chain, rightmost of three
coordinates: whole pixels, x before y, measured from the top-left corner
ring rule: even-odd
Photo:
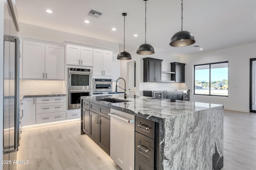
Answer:
[[[181,0],[181,31],[175,33],[170,42],[172,47],[185,47],[196,42],[195,37],[192,33],[182,30],[183,25],[183,0]]]

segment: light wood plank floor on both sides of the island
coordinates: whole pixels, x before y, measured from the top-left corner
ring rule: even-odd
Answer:
[[[17,170],[120,170],[87,135],[80,122],[22,131]],[[256,170],[256,114],[224,112],[224,168]]]

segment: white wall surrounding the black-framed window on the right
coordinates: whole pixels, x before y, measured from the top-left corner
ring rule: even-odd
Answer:
[[[224,109],[249,112],[250,58],[256,58],[256,43],[181,57],[186,63],[185,87],[193,89],[194,65],[228,61],[228,97],[194,95],[190,100],[222,104]]]

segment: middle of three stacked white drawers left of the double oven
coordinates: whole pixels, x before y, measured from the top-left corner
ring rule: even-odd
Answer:
[[[36,114],[52,113],[58,111],[66,111],[66,102],[36,105]]]

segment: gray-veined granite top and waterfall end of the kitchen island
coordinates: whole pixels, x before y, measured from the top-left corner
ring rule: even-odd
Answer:
[[[103,98],[81,99],[158,124],[158,165],[154,169],[220,170],[223,167],[222,105],[133,95],[126,99],[129,102],[120,103],[106,102]],[[82,126],[81,134],[84,134]]]

